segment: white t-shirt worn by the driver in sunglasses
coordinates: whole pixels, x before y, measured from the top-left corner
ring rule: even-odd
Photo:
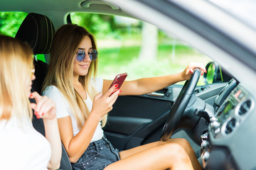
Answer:
[[[100,93],[102,92],[103,79],[92,79],[92,85],[96,87],[96,90]],[[73,113],[70,111],[70,106],[68,104],[67,99],[61,94],[56,86],[47,86],[46,90],[43,91],[43,96],[46,95],[51,98],[56,103],[56,116],[57,118],[64,118],[66,116],[70,116],[72,126],[73,126],[73,136],[77,135],[80,129],[78,128],[78,123],[75,120]],[[87,94],[87,99],[84,100],[89,111],[92,110],[92,99]],[[96,140],[100,140],[103,137],[103,130],[101,127],[101,123],[99,122],[95,133],[92,137],[91,142]]]

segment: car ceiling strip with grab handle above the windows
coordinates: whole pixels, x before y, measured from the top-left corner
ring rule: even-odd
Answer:
[[[16,4],[16,5],[14,5]],[[33,10],[32,10],[33,9]],[[88,13],[105,13],[115,14],[120,16],[129,16],[127,13],[122,11],[122,8],[111,1],[98,1],[98,0],[87,0],[87,1],[74,1],[73,0],[45,0],[45,1],[1,1],[0,11],[24,11],[27,13],[42,13],[46,16],[51,13],[71,13],[76,12],[88,12]]]

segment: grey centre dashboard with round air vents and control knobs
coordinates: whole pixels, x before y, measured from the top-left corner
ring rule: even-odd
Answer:
[[[203,168],[255,169],[255,120],[252,91],[236,85],[210,118],[208,132],[201,136]]]

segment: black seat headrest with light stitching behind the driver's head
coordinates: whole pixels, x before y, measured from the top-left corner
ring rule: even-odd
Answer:
[[[47,16],[38,13],[28,13],[21,23],[15,38],[28,42],[34,55],[47,54],[55,33],[53,23]]]

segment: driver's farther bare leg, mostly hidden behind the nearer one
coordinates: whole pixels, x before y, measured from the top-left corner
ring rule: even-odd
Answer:
[[[125,150],[123,152],[120,152],[119,153],[120,158],[124,159],[125,157],[129,157],[132,154],[137,154],[138,152],[142,152],[145,149],[149,149],[149,148],[160,146],[160,145],[166,145],[168,143],[181,145],[185,149],[186,153],[188,154],[188,157],[191,159],[193,169],[196,169],[196,170],[201,170],[202,169],[201,164],[198,162],[198,159],[196,158],[196,154],[195,154],[193,148],[191,147],[189,142],[187,140],[183,139],[183,138],[170,139],[167,142],[162,142],[162,141],[152,142],[152,143],[142,145],[142,146],[139,146],[139,147],[134,147],[132,149],[128,149],[128,150]],[[169,152],[171,152],[171,151],[169,151]]]

